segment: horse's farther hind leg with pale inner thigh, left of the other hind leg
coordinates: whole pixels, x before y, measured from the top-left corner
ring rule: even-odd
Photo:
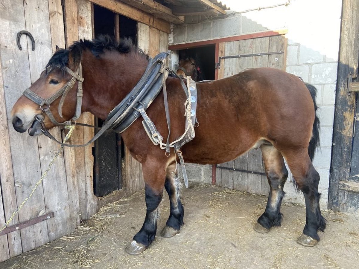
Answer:
[[[280,205],[284,197],[283,186],[288,177],[288,170],[284,165],[283,156],[274,146],[262,145],[261,150],[270,191],[266,210],[258,218],[254,229],[257,232],[265,233],[271,227],[281,225]]]

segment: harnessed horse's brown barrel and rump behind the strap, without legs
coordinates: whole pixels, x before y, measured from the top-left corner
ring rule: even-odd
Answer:
[[[197,84],[197,89],[200,126],[185,150],[191,151],[192,162],[202,160],[199,155],[204,154],[211,163],[216,158],[234,159],[262,139],[281,147],[305,146],[311,137],[313,100],[294,75],[272,68],[251,69]]]

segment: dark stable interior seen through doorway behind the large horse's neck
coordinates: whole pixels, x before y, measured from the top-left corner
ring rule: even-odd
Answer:
[[[93,5],[94,37],[101,34],[115,37],[115,17],[111,10]],[[137,44],[137,22],[125,16],[119,16],[119,36],[129,37]],[[95,118],[95,125],[102,126],[103,121]],[[96,131],[95,131],[96,132]],[[122,188],[122,158],[125,155],[121,135],[112,130],[106,131],[95,141],[94,155],[94,194],[98,197]]]

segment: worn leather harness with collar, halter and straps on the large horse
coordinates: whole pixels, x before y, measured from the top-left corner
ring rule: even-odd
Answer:
[[[163,52],[158,54],[154,59],[150,58],[148,66],[141,77],[141,79],[137,82],[136,86],[130,91],[129,94],[118,104],[115,108],[111,110],[108,114],[105,122],[103,123],[101,129],[96,133],[96,135],[89,140],[87,143],[83,145],[70,145],[66,143],[62,143],[56,140],[55,137],[51,135],[50,132],[45,127],[45,123],[43,122],[43,116],[41,114],[36,115],[35,120],[41,124],[41,131],[52,140],[56,141],[62,146],[67,147],[84,147],[95,141],[99,138],[107,129],[113,129],[117,133],[124,132],[127,128],[129,128],[132,123],[136,121],[140,115],[143,118],[142,124],[143,127],[152,141],[154,145],[159,145],[161,149],[165,149],[165,155],[168,157],[170,155],[170,148],[174,148],[178,158],[180,159],[180,165],[182,168],[183,179],[185,180],[185,185],[188,187],[188,178],[185,168],[185,162],[183,160],[182,152],[180,148],[185,145],[185,143],[191,141],[195,137],[194,127],[198,126],[198,122],[196,121],[196,108],[197,108],[197,89],[196,83],[191,79],[191,77],[187,76],[187,87],[183,82],[182,78],[179,77],[173,70],[169,69],[165,66],[164,60],[168,57],[170,52]],[[77,74],[65,67],[66,72],[68,72],[72,78],[63,86],[60,90],[56,91],[55,94],[51,95],[48,99],[43,99],[29,88],[27,88],[23,95],[32,100],[34,103],[40,106],[40,109],[43,110],[47,116],[50,118],[51,122],[55,125],[74,125],[76,124],[76,119],[80,117],[81,114],[81,104],[82,104],[82,96],[83,89],[82,84],[84,78],[82,77],[82,67],[81,63],[79,65],[79,69]],[[186,104],[185,104],[185,117],[186,117],[186,127],[185,132],[182,136],[177,138],[173,142],[169,142],[169,136],[171,134],[171,121],[169,118],[169,109],[168,109],[168,100],[167,100],[167,89],[165,81],[169,75],[177,76],[180,81],[183,90],[187,96]],[[50,105],[57,98],[61,97],[58,112],[62,117],[62,105],[64,104],[64,100],[66,98],[67,93],[71,88],[75,85],[76,80],[78,80],[78,89],[77,89],[77,98],[76,98],[76,110],[75,115],[70,121],[65,121],[59,123],[53,117]],[[164,107],[165,114],[168,126],[168,137],[167,141],[163,142],[163,137],[158,132],[154,123],[146,114],[146,109],[153,102],[153,100],[157,97],[160,91],[163,89],[163,97],[164,97]],[[43,108],[43,105],[47,105],[47,107]],[[75,123],[74,123],[74,122]],[[77,123],[79,124],[79,123]],[[81,124],[85,126],[89,126],[88,124]],[[94,127],[94,126],[91,126]]]

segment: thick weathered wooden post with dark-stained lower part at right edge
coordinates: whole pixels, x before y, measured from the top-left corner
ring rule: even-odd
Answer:
[[[330,173],[328,207],[340,210],[344,203],[339,196],[339,181],[350,173],[353,145],[353,117],[355,94],[348,95],[347,76],[358,69],[359,50],[359,1],[343,0],[338,64],[338,80],[335,100],[334,135]]]

